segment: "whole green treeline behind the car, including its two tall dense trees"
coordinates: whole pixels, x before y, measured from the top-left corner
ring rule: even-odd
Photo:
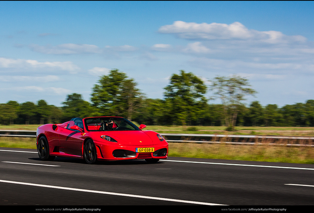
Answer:
[[[77,93],[68,95],[61,107],[44,100],[22,104],[9,101],[0,104],[0,123],[63,123],[73,117],[122,116],[146,125],[228,126],[226,115],[233,114],[234,118],[236,111],[236,126],[314,126],[314,100],[281,108],[262,106],[258,101],[249,106],[240,102],[229,103],[228,107],[210,104],[205,96],[208,88],[191,72],[173,74],[164,88],[164,99],[146,98],[136,86],[125,73],[112,70],[94,85],[91,102]]]

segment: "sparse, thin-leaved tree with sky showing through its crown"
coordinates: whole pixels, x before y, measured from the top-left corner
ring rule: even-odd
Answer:
[[[211,99],[219,98],[224,106],[225,124],[227,130],[234,131],[236,126],[239,106],[243,105],[245,96],[256,93],[246,78],[233,75],[231,77],[217,76],[210,80],[210,90],[214,96]]]

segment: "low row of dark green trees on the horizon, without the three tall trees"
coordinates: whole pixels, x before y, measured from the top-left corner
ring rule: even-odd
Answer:
[[[92,104],[85,102],[79,94],[72,94],[77,100],[72,104],[79,103],[75,108],[69,106],[57,107],[48,105],[44,100],[36,104],[25,102],[18,104],[9,101],[0,104],[0,124],[44,124],[62,123],[73,117],[106,116],[97,112]],[[180,120],[175,122],[170,114],[169,104],[160,99],[144,99],[142,106],[137,108],[132,121],[146,125],[182,125]],[[191,126],[225,126],[224,106],[218,104],[204,104],[203,108],[195,114],[186,125]],[[277,105],[262,106],[258,101],[252,102],[250,106],[240,106],[236,126],[300,126],[314,127],[314,100],[306,103],[285,105],[278,108]],[[123,116],[123,115],[119,115]],[[124,116],[125,117],[125,116]]]

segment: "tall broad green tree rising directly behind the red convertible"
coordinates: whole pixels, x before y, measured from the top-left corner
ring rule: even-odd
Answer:
[[[111,70],[94,85],[91,101],[93,106],[105,115],[125,116],[132,119],[133,113],[143,99],[143,94],[134,79],[128,79],[124,72]]]

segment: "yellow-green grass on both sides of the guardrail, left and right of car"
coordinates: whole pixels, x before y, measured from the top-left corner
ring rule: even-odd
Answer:
[[[0,125],[0,129],[36,130],[38,126]],[[158,133],[314,136],[313,127],[237,127],[235,132],[227,132],[224,129],[225,127],[148,126],[145,130],[154,130]],[[0,147],[36,149],[36,139],[0,137]],[[314,164],[314,147],[169,143],[168,156]]]

